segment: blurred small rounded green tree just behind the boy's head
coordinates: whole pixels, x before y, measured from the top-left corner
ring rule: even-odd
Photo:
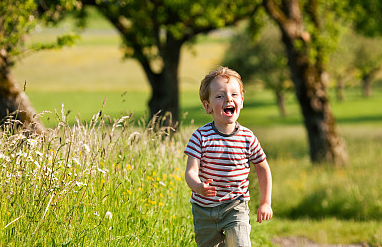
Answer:
[[[261,82],[272,90],[280,115],[285,117],[284,97],[292,88],[292,82],[279,36],[272,25],[267,25],[255,37],[245,29],[232,37],[222,63],[239,72],[244,83]]]

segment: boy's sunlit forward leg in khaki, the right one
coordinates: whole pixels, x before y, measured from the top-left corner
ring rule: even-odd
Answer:
[[[249,222],[249,207],[247,201],[235,201],[224,215],[224,233],[227,247],[251,246]]]

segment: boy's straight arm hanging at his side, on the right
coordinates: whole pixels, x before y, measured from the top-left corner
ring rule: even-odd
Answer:
[[[257,210],[257,222],[269,220],[273,216],[271,208],[272,175],[267,160],[255,165],[260,186],[260,206]]]

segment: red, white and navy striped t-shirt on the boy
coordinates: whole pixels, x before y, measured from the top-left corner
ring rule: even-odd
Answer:
[[[213,122],[192,134],[184,153],[200,160],[200,180],[213,179],[210,186],[217,189],[214,197],[192,192],[191,203],[203,207],[215,207],[236,199],[249,200],[250,162],[257,164],[266,158],[251,130],[237,124],[234,133],[225,135]]]

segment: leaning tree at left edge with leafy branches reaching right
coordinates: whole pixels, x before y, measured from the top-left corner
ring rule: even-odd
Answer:
[[[68,7],[69,3],[70,1],[67,1],[65,7]],[[58,12],[53,11],[52,5],[49,6],[49,11],[39,14],[39,6],[35,0],[0,2],[0,123],[2,125],[12,119],[12,124],[15,123],[15,126],[22,125],[38,133],[43,129],[36,117],[36,111],[24,92],[25,84],[23,89],[12,76],[11,68],[27,51],[60,47],[73,41],[75,36],[63,35],[57,39],[57,44],[40,44],[31,49],[25,48],[24,38],[33,31],[38,18],[57,16]],[[57,9],[64,8],[61,6]]]

